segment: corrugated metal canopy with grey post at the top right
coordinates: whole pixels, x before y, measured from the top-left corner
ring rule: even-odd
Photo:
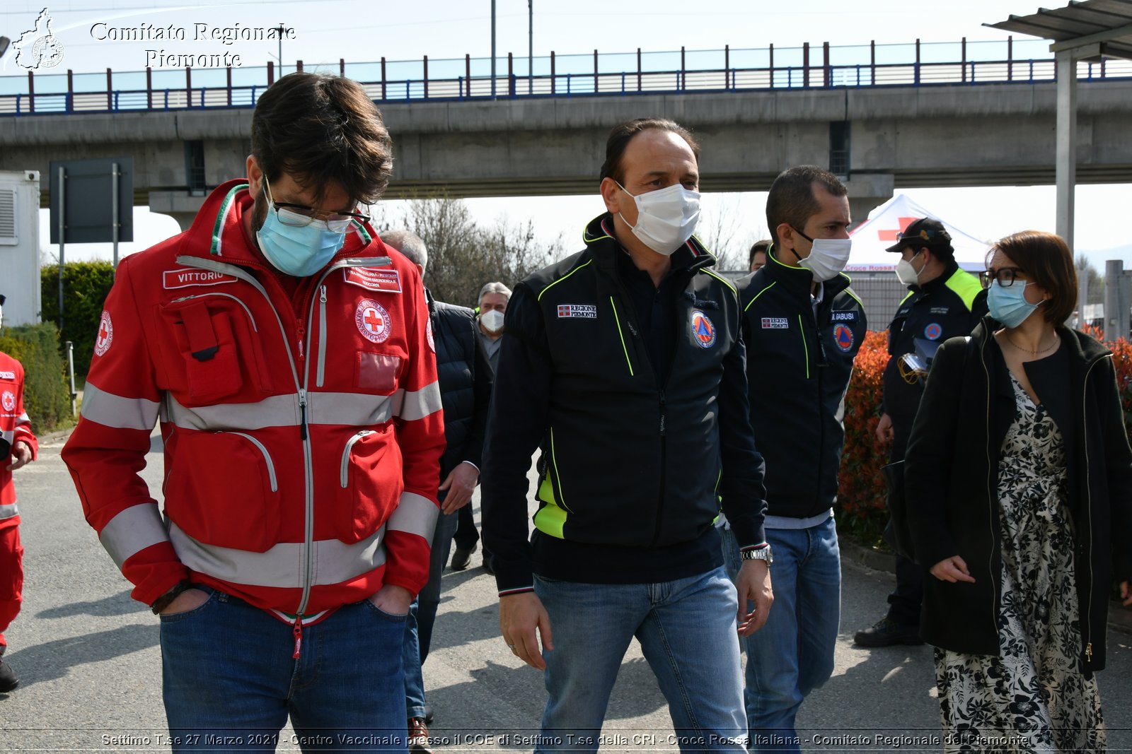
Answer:
[[[1132,0],[1072,0],[1064,8],[1040,8],[1029,16],[1011,15],[1004,21],[984,26],[1053,40],[1049,51],[1057,61],[1057,235],[1072,249],[1077,63],[1104,58],[1132,59]]]

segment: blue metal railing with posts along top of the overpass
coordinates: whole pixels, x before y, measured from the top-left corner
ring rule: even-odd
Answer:
[[[986,43],[984,43],[986,44]],[[925,47],[928,45],[924,45]],[[974,45],[972,45],[974,46]],[[808,45],[800,49],[775,50],[730,50],[722,51],[724,63],[732,59],[764,64],[722,67],[704,66],[688,67],[686,58],[706,59],[719,57],[721,51],[691,51],[679,53],[645,53],[653,55],[654,61],[677,62],[679,68],[658,68],[645,70],[643,54],[636,53],[636,70],[602,70],[597,51],[592,57],[592,69],[580,70],[580,60],[584,58],[589,67],[589,55],[557,57],[539,59],[543,71],[516,73],[514,59],[507,58],[507,72],[495,77],[482,72],[483,61],[465,57],[463,61],[432,61],[432,70],[453,73],[463,63],[463,75],[428,76],[429,61],[426,58],[421,68],[422,76],[391,78],[387,68],[409,72],[413,61],[396,61],[389,63],[350,63],[338,61],[337,68],[342,75],[351,75],[359,80],[367,93],[378,103],[396,102],[464,102],[486,98],[526,98],[526,97],[575,97],[575,96],[631,96],[642,94],[693,94],[719,92],[752,92],[778,89],[831,89],[831,88],[866,88],[894,86],[941,86],[986,84],[1034,84],[1056,80],[1056,68],[1053,58],[1013,57],[1013,47],[1007,46],[1005,59],[969,59],[968,45],[962,43],[960,60],[925,60],[921,45],[915,45],[915,57],[910,54],[911,45],[868,45],[852,49],[830,47],[823,45],[813,51]],[[893,47],[899,50],[893,50]],[[851,50],[852,55],[846,51]],[[863,59],[868,52],[868,62],[850,62],[834,64],[834,57],[856,57]],[[1040,51],[1040,50],[1039,50]],[[814,52],[812,60],[812,52]],[[800,53],[800,54],[799,54]],[[817,61],[818,53],[821,61]],[[885,62],[876,62],[878,59]],[[631,60],[627,54],[607,55],[615,63]],[[937,55],[943,57],[943,55]],[[780,64],[775,64],[775,58]],[[899,60],[906,58],[906,60]],[[786,59],[787,64],[781,64]],[[473,62],[475,71],[473,75]],[[525,60],[520,62],[525,64]],[[558,63],[565,62],[558,71]],[[378,69],[379,66],[379,69]],[[301,61],[297,66],[302,70]],[[308,67],[312,70],[326,70],[326,66]],[[607,64],[608,68],[608,64]],[[349,69],[349,70],[348,70]],[[549,69],[549,70],[547,70]],[[380,78],[370,78],[380,72]],[[260,78],[254,84],[233,84],[233,73],[241,79]],[[370,77],[367,77],[370,75]],[[114,77],[126,79],[130,84],[140,84],[145,79],[145,88],[136,85],[130,87],[113,86]],[[169,86],[174,77],[181,77],[183,85]],[[74,78],[80,79],[79,87]],[[158,79],[154,86],[153,79]],[[1086,81],[1132,78],[1132,61],[1105,60],[1097,63],[1079,63],[1078,78]],[[61,90],[61,79],[66,80],[66,90]],[[196,110],[212,107],[252,107],[258,95],[274,79],[274,68],[266,69],[185,69],[178,71],[152,70],[126,71],[113,73],[106,71],[105,87],[97,88],[95,80],[102,75],[83,73],[78,77],[68,71],[66,75],[46,75],[24,77],[0,77],[0,115],[18,116],[31,114],[66,114],[78,112],[160,112],[169,110]],[[14,83],[26,86],[22,92],[11,92]],[[161,84],[165,84],[162,86]],[[195,86],[195,84],[197,84]],[[203,84],[203,85],[200,85]],[[41,89],[36,92],[36,87]],[[8,89],[6,93],[5,89]],[[44,92],[43,89],[51,89]]]

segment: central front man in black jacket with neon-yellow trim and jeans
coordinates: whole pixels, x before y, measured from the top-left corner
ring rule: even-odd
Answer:
[[[736,618],[747,635],[771,603],[763,463],[738,294],[692,237],[697,154],[671,121],[616,127],[601,170],[608,214],[586,227],[584,251],[523,280],[507,306],[483,538],[504,640],[546,671],[535,751],[598,747],[634,636],[688,745],[744,749]],[[738,601],[712,526],[720,499],[748,558]]]

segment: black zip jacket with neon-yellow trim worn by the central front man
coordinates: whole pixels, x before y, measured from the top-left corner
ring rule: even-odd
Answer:
[[[672,255],[679,324],[658,383],[611,227],[608,215],[593,220],[586,249],[523,280],[507,307],[482,476],[483,537],[504,592],[530,588],[532,570],[597,583],[706,572],[721,563],[720,499],[740,546],[763,541],[738,294],[696,240]]]

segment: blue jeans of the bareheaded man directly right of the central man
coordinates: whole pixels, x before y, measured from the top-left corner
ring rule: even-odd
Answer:
[[[730,529],[722,540],[734,578],[739,548]],[[751,751],[799,752],[798,708],[833,674],[841,619],[838,531],[831,517],[808,529],[766,529],[766,541],[774,548],[774,605],[766,625],[741,640]]]

